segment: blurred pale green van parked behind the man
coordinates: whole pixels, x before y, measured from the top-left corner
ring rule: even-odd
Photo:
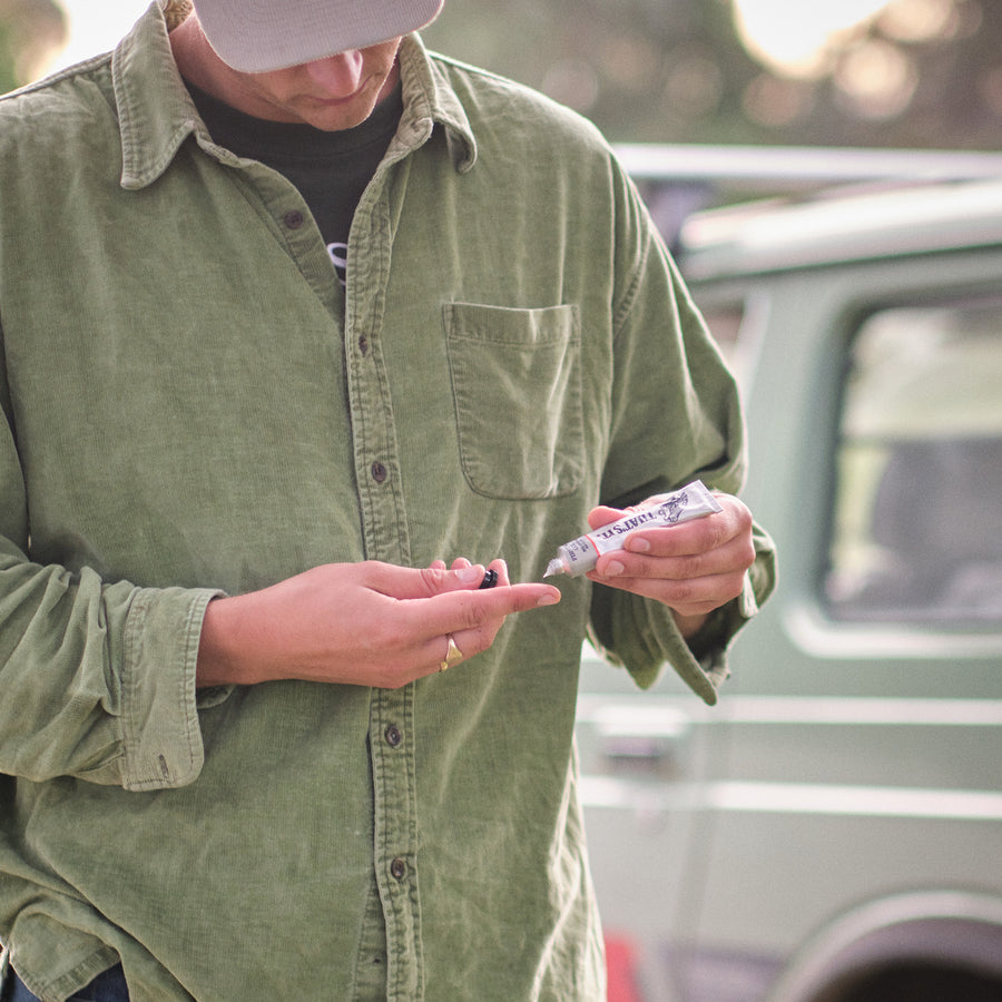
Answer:
[[[741,384],[779,586],[716,707],[586,650],[609,1000],[998,1002],[1002,180],[669,239]]]

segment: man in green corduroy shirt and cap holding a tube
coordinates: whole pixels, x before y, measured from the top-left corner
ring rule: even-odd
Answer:
[[[154,6],[0,102],[12,998],[603,995],[582,637],[713,703],[770,549],[632,186],[440,4]]]

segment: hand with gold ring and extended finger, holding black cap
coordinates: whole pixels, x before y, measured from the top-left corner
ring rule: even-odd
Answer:
[[[554,605],[550,584],[511,584],[502,560],[494,588],[465,560],[411,569],[328,563],[261,591],[209,602],[197,684],[305,679],[395,689],[439,670],[449,637],[463,660],[487,650],[504,619]]]

